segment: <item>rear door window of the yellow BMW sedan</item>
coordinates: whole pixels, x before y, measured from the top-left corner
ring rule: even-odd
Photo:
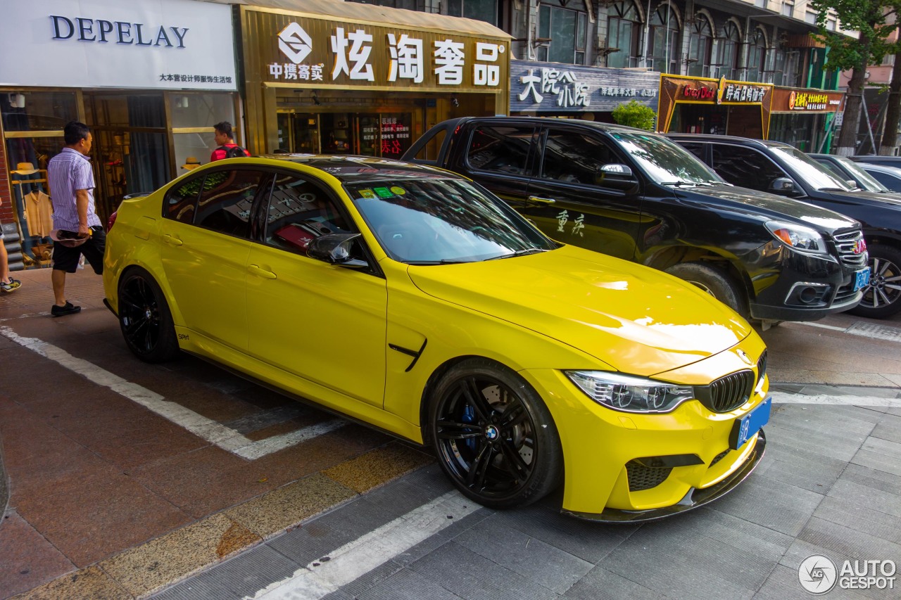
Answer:
[[[250,235],[250,207],[266,174],[252,169],[231,169],[206,174],[194,223],[214,232],[239,237]]]

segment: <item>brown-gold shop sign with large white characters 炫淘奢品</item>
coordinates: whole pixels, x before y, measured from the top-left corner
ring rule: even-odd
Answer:
[[[509,73],[506,40],[299,15],[259,18],[270,33],[260,33],[249,62],[268,84],[489,91]]]

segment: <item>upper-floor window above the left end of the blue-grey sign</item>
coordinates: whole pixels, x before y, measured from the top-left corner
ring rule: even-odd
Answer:
[[[538,37],[542,46],[537,59],[584,65],[587,14],[584,3],[567,0],[542,2],[538,13]]]

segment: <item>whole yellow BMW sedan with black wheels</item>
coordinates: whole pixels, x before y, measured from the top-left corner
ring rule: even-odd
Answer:
[[[212,359],[432,447],[495,508],[659,519],[766,445],[766,348],[658,270],[560,244],[465,177],[389,159],[213,162],[123,201],[106,304],[132,352]]]

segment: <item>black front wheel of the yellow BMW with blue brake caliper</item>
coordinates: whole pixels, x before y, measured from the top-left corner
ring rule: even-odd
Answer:
[[[430,405],[441,468],[481,505],[527,505],[560,484],[562,450],[551,413],[522,377],[487,359],[451,369]]]

